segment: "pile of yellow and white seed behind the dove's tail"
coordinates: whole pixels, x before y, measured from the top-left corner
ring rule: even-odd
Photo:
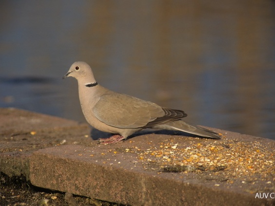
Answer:
[[[246,143],[223,139],[211,143],[190,142],[188,147],[181,148],[175,139],[168,139],[160,142],[158,148],[136,152],[137,159],[143,164],[157,165],[159,171],[223,171],[236,177],[256,174],[262,179],[270,178],[272,174],[275,180],[275,154],[258,141]]]

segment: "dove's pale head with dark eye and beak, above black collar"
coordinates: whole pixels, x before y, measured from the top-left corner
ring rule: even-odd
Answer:
[[[84,84],[96,82],[91,67],[83,61],[73,63],[67,74],[63,76],[63,79],[68,76],[75,77],[78,81],[83,81]]]

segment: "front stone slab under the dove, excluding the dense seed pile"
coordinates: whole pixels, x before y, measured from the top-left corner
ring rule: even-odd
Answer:
[[[155,148],[159,142],[170,138],[141,135],[116,145],[68,145],[38,150],[31,156],[30,180],[38,187],[131,206],[275,203],[272,198],[255,198],[256,192],[273,192],[274,182],[269,183],[269,180],[274,181],[273,175],[260,179],[258,175],[245,174],[225,177],[222,171],[214,170],[164,172],[153,161],[153,155],[150,163],[140,159],[140,152]],[[183,147],[190,142],[194,144],[193,141],[195,144],[213,142],[200,138],[172,138],[178,138],[176,144],[181,143]],[[246,141],[251,138],[246,137]]]

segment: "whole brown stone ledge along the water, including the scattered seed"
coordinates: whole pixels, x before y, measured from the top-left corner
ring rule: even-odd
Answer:
[[[15,109],[0,109],[0,119],[2,113],[17,124],[41,119],[14,129],[17,135],[11,125],[0,131],[0,171],[35,186],[132,206],[275,204],[273,140],[214,129],[221,140],[159,131],[97,145],[87,125]],[[268,198],[255,198],[263,192]]]

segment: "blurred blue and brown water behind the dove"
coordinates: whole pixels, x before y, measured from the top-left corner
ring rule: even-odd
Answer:
[[[0,107],[84,122],[77,82],[275,139],[275,1],[2,0]]]

